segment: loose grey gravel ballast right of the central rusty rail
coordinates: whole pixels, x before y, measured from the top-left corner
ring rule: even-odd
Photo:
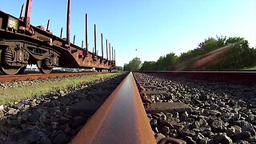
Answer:
[[[256,86],[204,82],[156,74],[134,74],[152,102],[184,102],[191,111],[147,114],[154,136],[186,143],[255,143]],[[153,88],[152,88],[153,87]],[[168,124],[162,125],[163,122]]]

